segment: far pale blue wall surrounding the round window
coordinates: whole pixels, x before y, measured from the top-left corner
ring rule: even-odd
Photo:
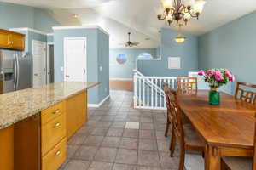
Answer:
[[[157,58],[156,48],[122,48],[122,49],[110,49],[109,50],[109,72],[110,78],[132,78],[132,71],[136,69],[136,59],[139,54],[148,53],[151,54],[154,58]],[[127,61],[125,64],[120,65],[116,61],[116,57],[119,54],[126,54]]]

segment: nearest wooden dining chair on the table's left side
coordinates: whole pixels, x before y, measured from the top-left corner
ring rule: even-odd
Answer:
[[[201,141],[199,135],[195,132],[194,127],[190,123],[183,124],[181,109],[177,104],[177,92],[170,89],[166,92],[168,98],[168,108],[170,108],[170,115],[172,117],[172,139],[171,139],[171,153],[173,156],[176,140],[180,144],[180,160],[179,170],[184,169],[185,152],[186,150],[198,151],[204,153],[205,144]]]

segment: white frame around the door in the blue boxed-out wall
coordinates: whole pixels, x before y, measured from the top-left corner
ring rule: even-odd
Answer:
[[[64,68],[63,68],[63,81],[65,82],[65,78],[66,78],[66,71],[67,71],[67,63],[66,63],[66,59],[67,59],[67,54],[66,54],[66,41],[67,40],[84,40],[85,42],[85,82],[87,82],[88,80],[88,68],[87,68],[87,38],[86,37],[64,37],[63,39],[63,54],[64,54]]]

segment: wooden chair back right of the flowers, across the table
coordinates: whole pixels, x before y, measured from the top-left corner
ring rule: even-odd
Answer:
[[[255,91],[252,91],[253,88],[255,88]],[[256,84],[236,82],[235,99],[241,99],[256,105]]]

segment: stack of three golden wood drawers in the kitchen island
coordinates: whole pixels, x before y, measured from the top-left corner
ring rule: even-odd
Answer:
[[[66,160],[66,101],[41,111],[41,169],[55,170]]]

